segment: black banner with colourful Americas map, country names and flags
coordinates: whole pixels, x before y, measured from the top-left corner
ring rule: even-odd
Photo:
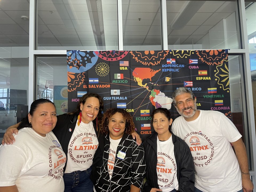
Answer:
[[[104,111],[126,109],[137,132],[145,139],[155,108],[179,114],[172,94],[178,87],[191,89],[197,108],[216,110],[231,117],[227,50],[79,51],[67,50],[68,111],[79,98],[98,93]]]

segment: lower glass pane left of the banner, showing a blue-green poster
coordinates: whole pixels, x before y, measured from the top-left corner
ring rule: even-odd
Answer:
[[[67,113],[66,62],[66,57],[37,57],[37,99],[54,102],[57,115]]]

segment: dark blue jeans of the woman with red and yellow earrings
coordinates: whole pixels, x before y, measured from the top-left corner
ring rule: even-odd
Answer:
[[[92,167],[85,171],[74,171],[63,175],[64,192],[92,192],[93,182],[90,179]]]

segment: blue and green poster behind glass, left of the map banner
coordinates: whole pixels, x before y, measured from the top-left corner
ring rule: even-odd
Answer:
[[[67,113],[67,86],[66,85],[55,85],[53,87],[53,102],[56,107],[57,115]]]

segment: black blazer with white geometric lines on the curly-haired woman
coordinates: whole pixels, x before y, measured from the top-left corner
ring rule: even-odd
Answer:
[[[131,185],[142,187],[145,177],[146,164],[142,145],[138,146],[131,135],[123,134],[118,144],[113,174],[110,180],[107,162],[109,159],[109,134],[105,136],[103,158],[99,160],[93,169],[93,182],[96,191],[122,191],[129,192]],[[102,152],[96,152],[95,159],[102,157]],[[118,158],[119,151],[126,153],[124,159]]]

